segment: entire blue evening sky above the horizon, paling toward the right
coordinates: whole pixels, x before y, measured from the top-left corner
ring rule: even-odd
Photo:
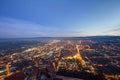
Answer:
[[[120,0],[0,0],[0,38],[120,36]]]

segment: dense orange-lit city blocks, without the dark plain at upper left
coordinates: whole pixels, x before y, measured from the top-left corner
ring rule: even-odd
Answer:
[[[1,57],[0,78],[20,72],[24,74],[27,69],[32,69],[32,77],[38,78],[41,68],[52,66],[50,70],[53,69],[55,73],[60,70],[87,72],[103,75],[106,79],[118,79],[119,45],[119,41],[49,40],[42,46],[32,46],[22,52]],[[34,69],[38,74],[34,74]],[[26,78],[26,75],[23,78]],[[37,78],[36,80],[39,80]]]

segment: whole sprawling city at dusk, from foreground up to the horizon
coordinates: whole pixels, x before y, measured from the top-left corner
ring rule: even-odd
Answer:
[[[5,80],[13,80],[9,76],[17,73],[16,80],[40,80],[38,73],[45,67],[50,67],[58,77],[119,79],[119,36],[1,39],[0,44],[0,76]],[[38,71],[34,72],[34,68]],[[34,74],[28,75],[29,70]],[[19,75],[22,79],[17,79]]]

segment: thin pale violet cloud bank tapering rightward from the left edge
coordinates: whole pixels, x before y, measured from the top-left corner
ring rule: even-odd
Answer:
[[[34,22],[0,16],[0,37],[73,37],[85,35],[82,31],[48,27]]]

